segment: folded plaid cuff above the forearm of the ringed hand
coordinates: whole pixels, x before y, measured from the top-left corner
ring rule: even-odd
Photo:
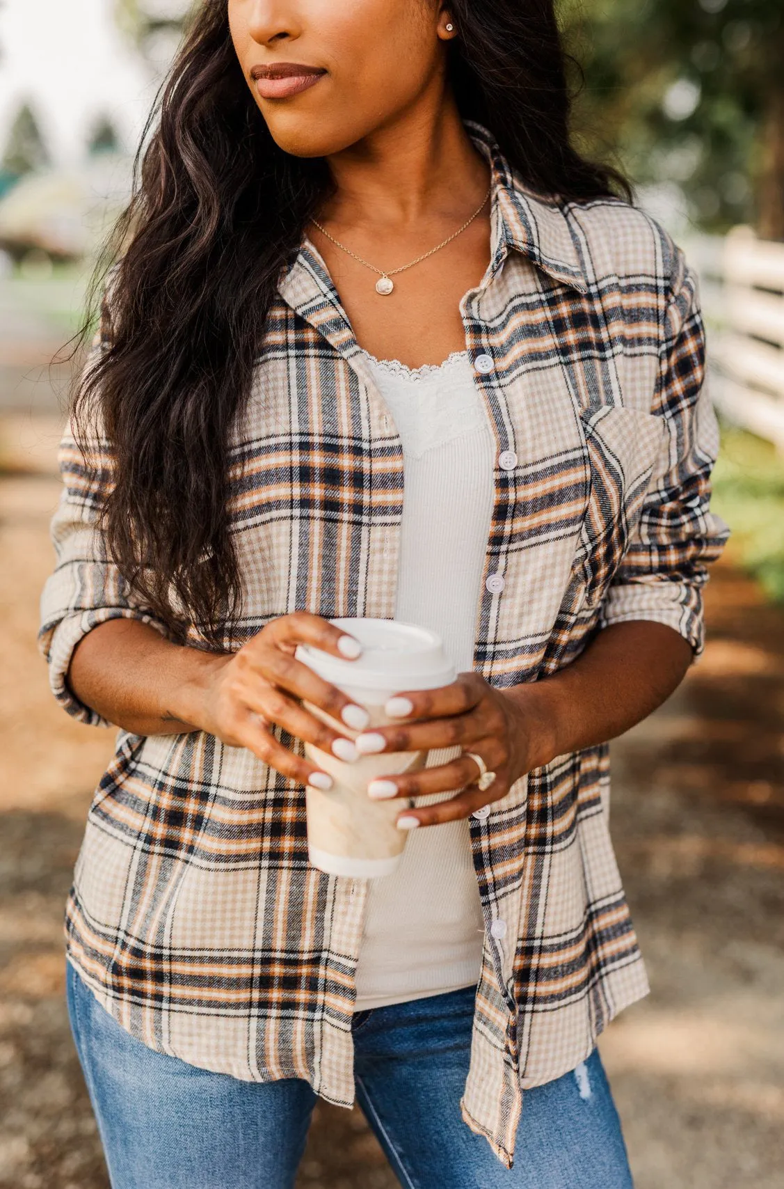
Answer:
[[[691,583],[656,578],[611,586],[601,606],[600,625],[649,619],[665,623],[691,644],[694,658],[704,649],[702,590]]]

